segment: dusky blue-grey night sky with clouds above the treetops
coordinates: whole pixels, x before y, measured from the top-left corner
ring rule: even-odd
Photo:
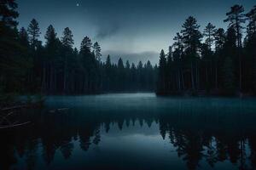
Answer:
[[[193,15],[201,30],[212,22],[224,27],[225,13],[234,4],[246,12],[255,0],[18,0],[20,26],[32,18],[39,22],[41,38],[47,26],[55,27],[58,37],[65,27],[73,31],[75,47],[84,36],[102,45],[102,54],[121,56],[137,62],[158,61],[160,49],[167,49],[181,30],[184,20]]]

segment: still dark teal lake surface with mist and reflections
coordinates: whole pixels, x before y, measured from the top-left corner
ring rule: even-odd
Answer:
[[[256,168],[256,99],[55,96],[20,119],[0,169]]]

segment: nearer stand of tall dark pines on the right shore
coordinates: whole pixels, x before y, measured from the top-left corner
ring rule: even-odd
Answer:
[[[256,6],[226,15],[227,31],[209,23],[201,32],[194,17],[185,20],[160,52],[158,94],[256,94]]]

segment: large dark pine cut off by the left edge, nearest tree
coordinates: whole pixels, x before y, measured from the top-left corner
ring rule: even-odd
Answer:
[[[0,3],[0,94],[20,92],[27,71],[27,61],[17,41],[20,39],[16,28],[17,7],[14,0]]]

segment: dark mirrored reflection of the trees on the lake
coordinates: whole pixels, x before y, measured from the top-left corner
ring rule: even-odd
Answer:
[[[71,110],[68,114],[32,114],[30,127],[12,131],[1,131],[5,138],[0,140],[3,169],[15,167],[20,157],[26,157],[26,168],[35,169],[41,154],[46,165],[54,161],[57,151],[65,159],[73,156],[74,143],[79,141],[81,150],[90,150],[92,144],[100,144],[102,132],[108,133],[116,125],[119,131],[130,128],[138,122],[138,128],[159,125],[163,139],[170,140],[177,156],[188,169],[198,169],[206,162],[215,167],[218,162],[230,161],[239,169],[256,168],[256,127],[255,116],[230,111],[218,112],[210,107],[205,110],[177,105],[172,113],[130,111],[120,114],[79,114]],[[236,126],[235,126],[236,125]],[[39,147],[39,146],[42,147]]]

